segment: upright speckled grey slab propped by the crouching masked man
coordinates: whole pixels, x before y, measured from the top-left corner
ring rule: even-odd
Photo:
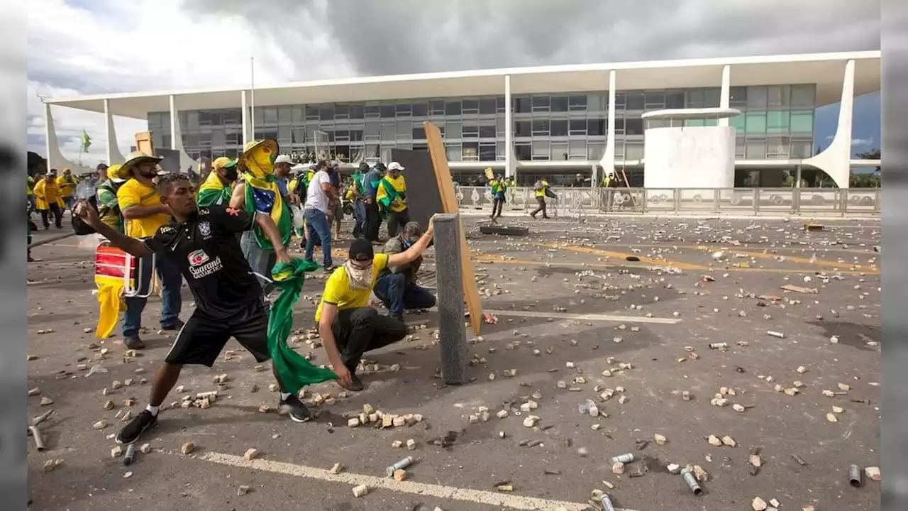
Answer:
[[[469,352],[464,327],[460,215],[436,215],[434,225],[441,377],[447,385],[463,385],[468,381]]]

